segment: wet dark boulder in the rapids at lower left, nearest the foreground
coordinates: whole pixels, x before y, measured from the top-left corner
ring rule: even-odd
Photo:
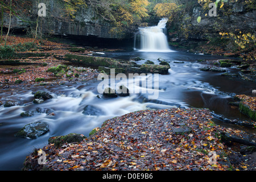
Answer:
[[[14,136],[22,138],[36,139],[39,136],[46,134],[49,131],[49,126],[45,122],[33,122],[25,125]]]

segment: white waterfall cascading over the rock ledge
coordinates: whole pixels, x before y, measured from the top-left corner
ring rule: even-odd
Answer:
[[[139,35],[136,34],[134,38],[134,48],[139,44],[138,49],[143,52],[172,52],[168,46],[167,36],[164,34],[167,21],[168,18],[163,18],[157,26],[139,28]]]

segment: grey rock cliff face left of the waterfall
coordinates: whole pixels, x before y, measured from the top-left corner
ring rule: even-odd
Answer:
[[[42,32],[51,35],[75,35],[75,36],[94,36],[97,38],[118,38],[116,35],[110,34],[112,24],[96,15],[92,8],[86,7],[77,11],[76,18],[69,20],[68,15],[63,13],[64,4],[60,0],[42,0],[40,3],[46,4],[46,17],[39,17],[39,26]],[[38,3],[34,2],[31,6],[31,16],[22,17],[28,21],[35,21],[38,15]],[[9,24],[9,15],[4,16],[5,27]],[[29,23],[12,16],[11,28],[26,29]]]

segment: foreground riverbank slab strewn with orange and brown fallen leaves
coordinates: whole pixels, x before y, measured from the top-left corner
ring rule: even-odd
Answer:
[[[23,170],[255,170],[255,136],[214,125],[207,109],[137,111],[105,121],[89,138],[73,136],[79,140],[49,139],[46,164],[36,148]],[[238,152],[230,136],[254,145]]]

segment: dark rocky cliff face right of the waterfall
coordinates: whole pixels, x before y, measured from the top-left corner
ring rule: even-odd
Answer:
[[[219,32],[234,32],[235,30],[254,32],[256,29],[256,11],[249,9],[243,1],[229,1],[226,6],[217,8],[217,16],[209,16],[209,10],[203,9],[199,3],[186,11],[180,22],[183,26],[178,38],[204,40],[219,36]],[[205,14],[208,14],[205,16]],[[197,17],[201,16],[201,22]],[[186,32],[187,31],[187,32]]]

